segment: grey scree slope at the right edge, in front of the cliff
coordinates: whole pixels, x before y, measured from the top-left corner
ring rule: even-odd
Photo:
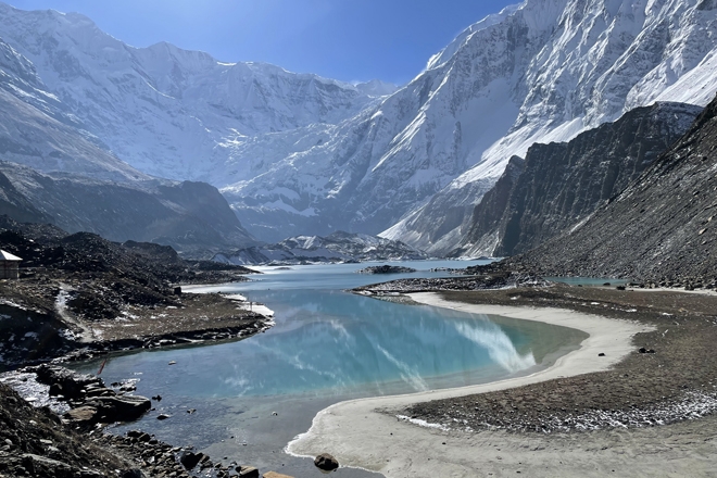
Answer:
[[[508,266],[546,275],[717,280],[717,98],[690,130],[584,224]]]

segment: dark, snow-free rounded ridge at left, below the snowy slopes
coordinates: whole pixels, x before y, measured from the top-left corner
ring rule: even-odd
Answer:
[[[194,257],[256,243],[205,183],[115,183],[0,162],[0,207],[20,222],[52,222],[120,242],[158,242]]]

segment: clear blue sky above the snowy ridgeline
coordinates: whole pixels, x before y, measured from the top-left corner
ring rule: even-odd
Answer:
[[[517,0],[4,0],[79,12],[135,47],[168,41],[345,81],[402,84],[461,30]]]

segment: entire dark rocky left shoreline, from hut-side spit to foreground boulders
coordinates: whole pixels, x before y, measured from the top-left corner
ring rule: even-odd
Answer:
[[[131,382],[105,386],[58,365],[265,331],[272,317],[238,298],[181,290],[248,280],[253,271],[7,217],[0,217],[0,246],[24,260],[20,280],[0,280],[0,372],[7,372],[0,376],[0,477],[260,476],[141,431],[105,435],[104,427],[138,419],[161,398],[135,397]],[[25,398],[35,406],[9,385],[29,388]]]

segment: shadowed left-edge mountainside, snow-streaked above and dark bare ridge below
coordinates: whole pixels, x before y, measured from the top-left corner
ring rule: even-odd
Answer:
[[[256,243],[215,187],[152,178],[108,151],[2,40],[0,214],[189,254]]]

